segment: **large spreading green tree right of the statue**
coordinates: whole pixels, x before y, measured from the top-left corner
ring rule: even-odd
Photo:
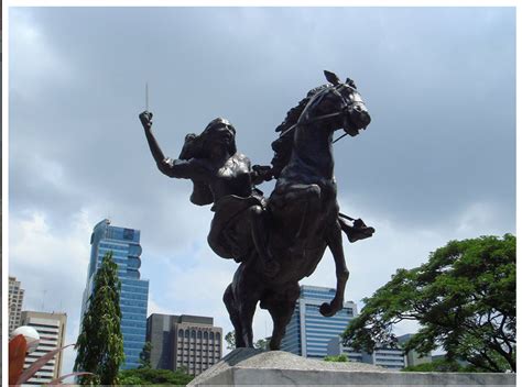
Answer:
[[[344,342],[372,352],[394,345],[393,324],[416,320],[421,330],[404,350],[420,354],[442,346],[446,358],[467,361],[479,371],[515,371],[516,239],[505,234],[452,241],[429,254],[426,264],[399,269],[365,299]]]

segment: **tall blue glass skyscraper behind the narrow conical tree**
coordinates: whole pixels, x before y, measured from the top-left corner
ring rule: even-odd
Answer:
[[[126,362],[121,368],[135,368],[140,365],[140,353],[145,344],[149,298],[149,280],[140,279],[139,272],[141,266],[140,230],[110,225],[110,221],[104,219],[95,225],[90,245],[90,262],[81,302],[81,316],[87,309],[87,302],[93,292],[95,273],[100,267],[104,256],[112,252],[112,258],[118,264],[118,277],[121,280],[121,332],[126,354]]]

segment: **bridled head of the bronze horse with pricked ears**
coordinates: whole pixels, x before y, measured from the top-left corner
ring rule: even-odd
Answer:
[[[344,129],[351,136],[359,134],[361,129],[366,129],[370,121],[370,114],[357,91],[355,82],[347,78],[341,82],[339,78],[330,71],[325,71],[326,79],[331,86],[318,92],[311,104],[314,113],[308,119],[320,120],[322,117],[331,122],[331,129]]]

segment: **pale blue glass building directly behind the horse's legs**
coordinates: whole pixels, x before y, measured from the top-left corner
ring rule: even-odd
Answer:
[[[282,351],[304,357],[323,358],[327,355],[329,340],[342,333],[357,316],[357,306],[352,301],[345,302],[333,317],[319,313],[320,305],[330,302],[335,292],[335,289],[325,287],[301,286],[300,298],[281,343]]]

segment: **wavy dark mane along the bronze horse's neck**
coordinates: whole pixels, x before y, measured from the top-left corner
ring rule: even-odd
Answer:
[[[275,132],[280,132],[280,136],[272,143],[272,150],[274,151],[274,157],[272,158],[272,173],[275,178],[279,178],[281,170],[289,164],[290,156],[292,155],[292,145],[294,142],[294,136],[292,133],[283,134],[289,128],[294,125],[300,119],[303,110],[306,104],[309,102],[312,97],[328,88],[328,85],[322,85],[308,91],[305,98],[303,98],[300,103],[289,110],[284,121],[275,129]]]

